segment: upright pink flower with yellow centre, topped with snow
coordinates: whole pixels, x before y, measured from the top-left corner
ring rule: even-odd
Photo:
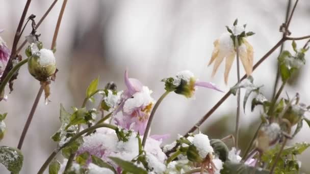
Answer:
[[[121,104],[114,112],[115,123],[125,129],[133,129],[144,134],[145,127],[155,100],[152,91],[135,78],[128,78],[125,71],[127,89],[121,97]]]

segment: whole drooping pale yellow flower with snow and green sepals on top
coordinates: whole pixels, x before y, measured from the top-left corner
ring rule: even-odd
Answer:
[[[240,60],[243,64],[246,74],[248,76],[251,75],[253,70],[253,47],[246,40],[246,37],[251,36],[254,33],[245,33],[245,25],[240,26],[237,24],[234,24],[231,30],[229,27],[227,27],[227,30],[229,33],[223,33],[219,39],[214,41],[214,50],[212,52],[211,60],[209,62],[209,65],[211,65],[215,61],[212,71],[212,76],[214,76],[220,64],[226,57],[224,72],[225,84],[227,84],[228,74],[236,57],[236,37],[238,38],[239,42]]]

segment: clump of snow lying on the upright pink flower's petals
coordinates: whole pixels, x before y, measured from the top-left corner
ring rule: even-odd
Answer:
[[[154,103],[154,99],[150,96],[152,93],[147,86],[142,87],[142,91],[135,93],[132,98],[125,101],[123,111],[127,114],[131,114],[139,107],[145,107],[151,103]]]

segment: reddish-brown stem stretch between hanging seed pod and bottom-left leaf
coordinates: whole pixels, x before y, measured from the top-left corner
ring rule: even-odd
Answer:
[[[40,85],[40,90],[38,91],[37,97],[33,103],[31,110],[30,110],[27,122],[25,123],[25,126],[23,127],[22,133],[21,133],[20,138],[19,138],[19,142],[18,142],[18,146],[17,146],[17,149],[19,149],[19,150],[22,147],[23,140],[25,139],[25,136],[27,134],[27,131],[28,131],[28,128],[29,128],[30,123],[32,121],[33,115],[34,115],[36,108],[38,106],[38,103],[40,101],[40,97],[42,95],[42,92],[43,92],[43,85]]]

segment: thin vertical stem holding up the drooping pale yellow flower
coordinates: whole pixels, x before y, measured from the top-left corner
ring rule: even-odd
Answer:
[[[239,42],[238,37],[235,39],[236,43],[236,55],[237,55],[237,79],[240,83],[240,63],[239,63]],[[236,115],[236,129],[235,129],[235,147],[238,150],[238,139],[239,139],[239,122],[240,122],[240,88],[237,90],[237,115]]]

